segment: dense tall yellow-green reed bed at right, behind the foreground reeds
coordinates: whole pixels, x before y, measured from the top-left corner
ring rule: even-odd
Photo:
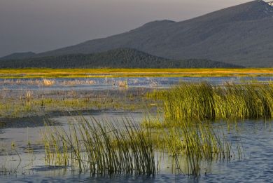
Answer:
[[[273,117],[273,85],[270,83],[225,83],[214,86],[181,83],[153,93],[162,100],[165,117],[181,119],[245,119]]]

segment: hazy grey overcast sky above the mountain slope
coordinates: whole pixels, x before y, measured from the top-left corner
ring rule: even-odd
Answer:
[[[0,56],[71,46],[153,20],[186,20],[247,1],[0,0]]]

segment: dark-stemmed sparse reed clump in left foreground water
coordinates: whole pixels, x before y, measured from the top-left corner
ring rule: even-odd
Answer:
[[[94,174],[155,175],[153,144],[144,130],[128,120],[123,128],[113,123],[103,126],[94,118],[77,123],[69,126],[69,132],[58,129],[44,136],[47,163],[77,166]]]

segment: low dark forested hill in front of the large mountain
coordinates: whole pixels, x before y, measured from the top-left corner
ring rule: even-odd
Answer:
[[[22,60],[1,60],[0,68],[214,68],[240,67],[211,60],[168,60],[134,50],[118,48],[104,53],[72,54],[59,56],[32,57]]]

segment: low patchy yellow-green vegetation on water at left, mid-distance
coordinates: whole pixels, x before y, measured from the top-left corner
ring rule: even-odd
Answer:
[[[0,118],[43,116],[51,112],[144,109],[146,90],[0,90]]]

